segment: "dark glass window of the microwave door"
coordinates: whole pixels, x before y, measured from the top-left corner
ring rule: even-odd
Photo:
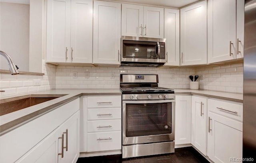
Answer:
[[[157,59],[157,43],[123,40],[123,58]]]

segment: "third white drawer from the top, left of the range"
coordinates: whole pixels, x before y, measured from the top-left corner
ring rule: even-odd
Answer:
[[[88,132],[106,132],[121,130],[121,120],[88,121]]]

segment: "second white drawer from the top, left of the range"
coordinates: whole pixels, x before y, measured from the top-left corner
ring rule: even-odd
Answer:
[[[121,108],[88,109],[88,120],[121,119]]]

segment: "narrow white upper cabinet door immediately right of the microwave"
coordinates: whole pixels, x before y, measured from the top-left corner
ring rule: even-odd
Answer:
[[[166,38],[166,66],[180,65],[180,10],[164,9],[164,38]]]

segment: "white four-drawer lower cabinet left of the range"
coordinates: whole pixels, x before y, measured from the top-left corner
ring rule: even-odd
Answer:
[[[81,118],[81,156],[121,153],[121,95],[83,96]],[[85,104],[86,103],[86,104]],[[93,152],[93,153],[92,153]],[[116,153],[117,154],[117,153]]]

